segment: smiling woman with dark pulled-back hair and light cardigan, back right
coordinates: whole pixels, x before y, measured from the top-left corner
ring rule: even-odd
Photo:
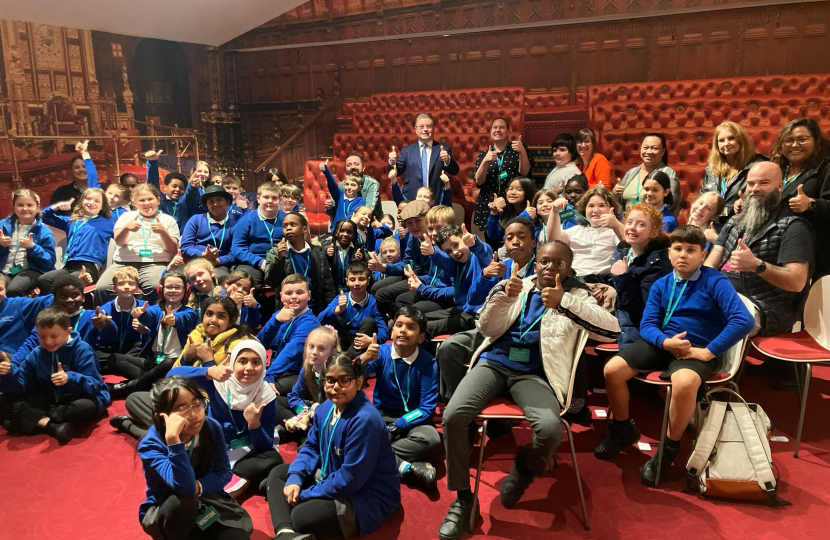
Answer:
[[[670,209],[676,214],[680,209],[683,193],[680,191],[677,174],[675,174],[674,169],[669,167],[666,137],[661,133],[649,133],[643,137],[640,143],[640,159],[642,164],[630,169],[625,173],[620,183],[614,186],[614,195],[620,199],[624,208],[627,209],[632,204],[643,201],[643,184],[645,181],[651,178],[656,171],[663,171],[671,181],[672,205]]]

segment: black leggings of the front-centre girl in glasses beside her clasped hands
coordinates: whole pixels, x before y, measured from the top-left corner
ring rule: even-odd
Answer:
[[[285,500],[283,488],[288,478],[288,463],[284,463],[268,476],[268,509],[274,533],[292,529],[317,538],[342,537],[337,519],[337,506],[332,499],[311,499],[292,507]]]

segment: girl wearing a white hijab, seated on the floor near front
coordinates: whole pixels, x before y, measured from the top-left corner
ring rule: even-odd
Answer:
[[[181,366],[169,376],[191,377],[207,393],[208,414],[228,445],[233,478],[225,491],[237,496],[258,486],[283,462],[277,451],[277,395],[265,382],[265,347],[256,339],[236,343],[228,358],[211,367]]]

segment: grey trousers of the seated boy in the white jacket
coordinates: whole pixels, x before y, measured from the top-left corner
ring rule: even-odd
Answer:
[[[523,463],[535,476],[545,471],[548,456],[562,441],[559,401],[550,384],[538,375],[520,374],[503,366],[477,364],[464,377],[444,411],[444,449],[447,454],[447,489],[470,489],[468,426],[493,399],[507,393],[527,416],[533,442],[520,449]]]

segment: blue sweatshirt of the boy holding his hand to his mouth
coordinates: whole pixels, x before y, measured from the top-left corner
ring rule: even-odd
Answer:
[[[280,322],[277,315],[262,327],[256,338],[271,349],[271,364],[265,375],[265,380],[274,382],[283,373],[299,373],[303,366],[303,348],[308,334],[320,326],[320,321],[310,309],[305,310],[288,322]]]

